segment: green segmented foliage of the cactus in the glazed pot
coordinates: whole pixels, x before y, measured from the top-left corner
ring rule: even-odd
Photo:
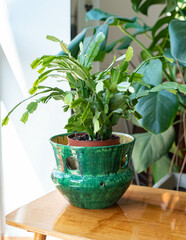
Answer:
[[[130,73],[129,62],[133,56],[133,49],[129,47],[126,54],[118,59],[114,58],[110,66],[102,71],[91,74],[92,62],[99,54],[100,45],[105,35],[100,32],[86,47],[80,42],[80,54],[77,59],[72,56],[67,45],[53,36],[47,36],[49,40],[58,42],[64,52],[62,55],[42,56],[32,64],[32,68],[40,67],[39,77],[30,89],[30,98],[35,98],[27,106],[21,121],[26,123],[30,114],[38,107],[39,103],[47,103],[49,100],[62,100],[64,112],[73,110],[73,115],[68,119],[65,128],[69,132],[85,131],[89,134],[90,140],[109,139],[112,135],[112,127],[117,124],[120,117],[130,119],[131,114],[138,119],[141,115],[135,111],[138,99],[142,93],[136,94],[136,84],[149,87],[142,82],[142,74],[137,73],[139,68]],[[121,62],[117,65],[118,62]],[[115,66],[116,65],[116,66]],[[56,79],[63,85],[67,81],[69,91],[59,87],[42,85],[47,78]],[[145,95],[147,94],[144,91]],[[37,98],[38,95],[41,97]],[[9,115],[25,99],[17,104],[5,117],[2,125],[6,125]]]

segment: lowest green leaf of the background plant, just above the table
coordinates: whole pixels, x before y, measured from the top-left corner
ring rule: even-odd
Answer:
[[[169,174],[171,159],[164,155],[152,165],[152,175],[154,183],[157,183],[161,178]],[[173,165],[173,172],[178,172],[178,167]]]

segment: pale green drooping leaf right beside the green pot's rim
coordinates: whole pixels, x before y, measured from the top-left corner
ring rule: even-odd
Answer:
[[[158,135],[148,132],[135,134],[135,138],[132,159],[135,171],[139,173],[146,170],[169,151],[174,142],[174,129],[171,127]]]

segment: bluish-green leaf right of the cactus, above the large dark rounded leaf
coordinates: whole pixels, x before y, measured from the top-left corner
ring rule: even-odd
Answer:
[[[159,59],[150,60],[138,70],[138,73],[144,74],[143,82],[156,86],[162,81],[162,63]]]

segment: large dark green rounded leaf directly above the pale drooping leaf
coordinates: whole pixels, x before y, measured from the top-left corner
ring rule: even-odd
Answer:
[[[135,109],[143,117],[139,120],[141,126],[158,134],[166,131],[173,123],[178,110],[178,99],[166,90],[152,92],[139,99]]]

